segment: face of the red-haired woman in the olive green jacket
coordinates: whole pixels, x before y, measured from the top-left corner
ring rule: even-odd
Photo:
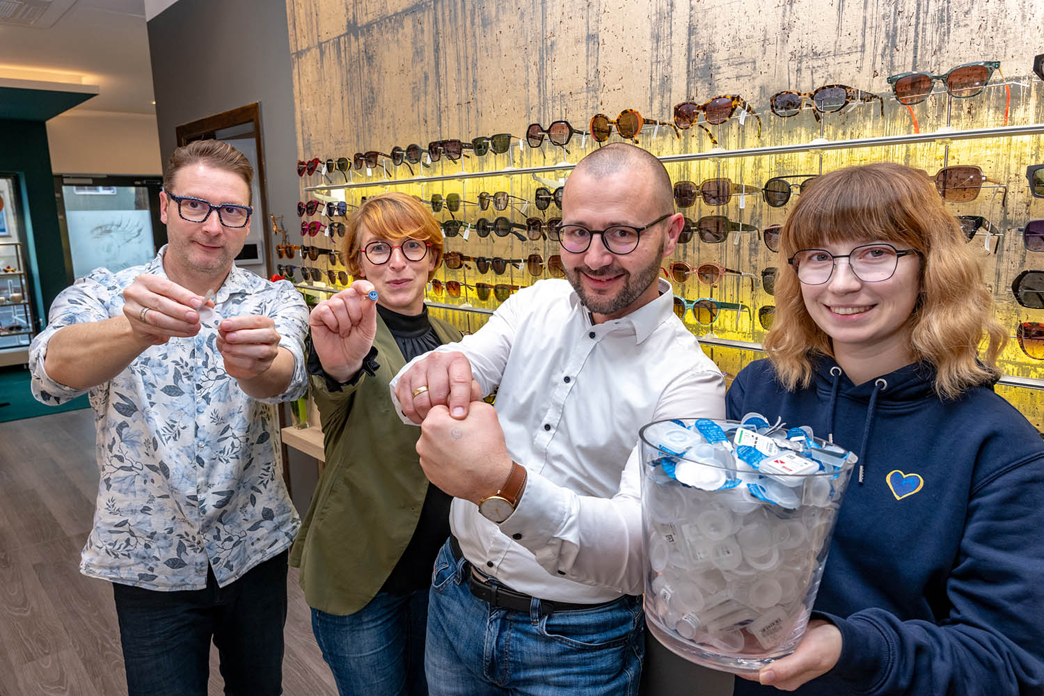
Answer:
[[[437,261],[435,254],[429,247],[423,259],[410,261],[403,256],[399,246],[409,241],[409,238],[388,241],[370,232],[364,223],[359,225],[358,235],[358,275],[374,284],[378,293],[377,304],[400,314],[420,314],[424,310],[424,289],[428,284],[428,275],[434,270]],[[366,244],[376,240],[395,247],[385,263],[375,264],[363,253]],[[425,242],[421,240],[421,243]]]

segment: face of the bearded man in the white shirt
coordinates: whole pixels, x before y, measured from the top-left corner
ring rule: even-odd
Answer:
[[[664,212],[650,195],[650,186],[634,171],[594,176],[577,169],[563,193],[563,224],[588,230],[614,224],[644,226]],[[677,215],[652,225],[641,233],[638,247],[631,254],[611,253],[601,235],[592,237],[587,251],[562,249],[566,277],[596,323],[625,316],[656,299],[660,265],[673,251],[683,222]]]

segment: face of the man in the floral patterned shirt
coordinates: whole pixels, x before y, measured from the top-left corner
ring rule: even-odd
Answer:
[[[170,193],[201,198],[214,205],[237,206],[248,206],[251,195],[242,176],[203,163],[180,169],[174,174]],[[199,279],[216,287],[214,279],[217,283],[224,280],[251,231],[250,224],[223,226],[217,211],[211,211],[203,222],[190,222],[182,218],[177,202],[165,192],[160,193],[160,219],[167,225],[169,244],[164,268],[171,280],[183,285],[186,283],[180,279]]]

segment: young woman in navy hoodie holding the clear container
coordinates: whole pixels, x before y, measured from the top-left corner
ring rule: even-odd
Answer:
[[[735,693],[1041,693],[1044,442],[992,389],[1006,332],[956,219],[924,172],[849,167],[804,189],[778,267],[729,417],[859,461],[804,640]]]

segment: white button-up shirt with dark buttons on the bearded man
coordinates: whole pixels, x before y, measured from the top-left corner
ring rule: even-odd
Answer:
[[[725,417],[720,370],[674,316],[670,284],[661,280],[660,292],[594,325],[567,281],[540,281],[475,334],[436,349],[464,353],[483,393],[499,385],[507,452],[528,474],[499,526],[466,500],[450,511],[468,559],[514,590],[579,603],[643,591],[638,431]],[[399,376],[390,386],[402,416]]]

